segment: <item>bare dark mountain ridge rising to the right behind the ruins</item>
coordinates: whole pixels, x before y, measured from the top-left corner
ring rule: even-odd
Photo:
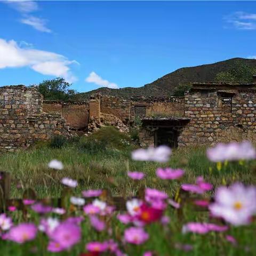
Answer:
[[[155,96],[169,97],[174,93],[175,88],[179,84],[188,84],[195,82],[212,82],[218,73],[225,72],[230,69],[235,61],[242,61],[244,64],[256,68],[255,59],[232,58],[228,60],[218,61],[210,64],[204,64],[194,67],[182,67],[169,74],[166,74],[154,82],[145,84],[141,87],[124,87],[121,89],[110,89],[101,87],[89,92],[78,93],[79,99],[88,99],[91,94],[101,93],[102,95],[120,96],[123,98],[131,98],[133,96]]]

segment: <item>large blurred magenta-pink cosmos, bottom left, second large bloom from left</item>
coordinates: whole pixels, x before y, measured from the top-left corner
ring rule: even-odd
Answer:
[[[81,240],[81,228],[75,223],[64,221],[49,235],[51,242],[57,243],[63,249],[69,249]]]

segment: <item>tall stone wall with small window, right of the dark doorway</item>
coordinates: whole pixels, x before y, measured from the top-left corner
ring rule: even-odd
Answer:
[[[197,87],[185,95],[185,117],[190,122],[179,146],[256,139],[255,85]]]

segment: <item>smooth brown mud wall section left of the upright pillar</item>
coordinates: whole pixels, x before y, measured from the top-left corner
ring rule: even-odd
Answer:
[[[87,130],[89,123],[89,102],[61,102],[44,100],[43,111],[59,113],[65,119],[71,130]]]

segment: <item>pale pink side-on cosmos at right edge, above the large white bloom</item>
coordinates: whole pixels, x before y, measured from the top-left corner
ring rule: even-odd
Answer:
[[[256,158],[256,150],[251,142],[219,143],[213,148],[207,149],[207,157],[212,162],[238,161],[240,159],[250,160]]]

